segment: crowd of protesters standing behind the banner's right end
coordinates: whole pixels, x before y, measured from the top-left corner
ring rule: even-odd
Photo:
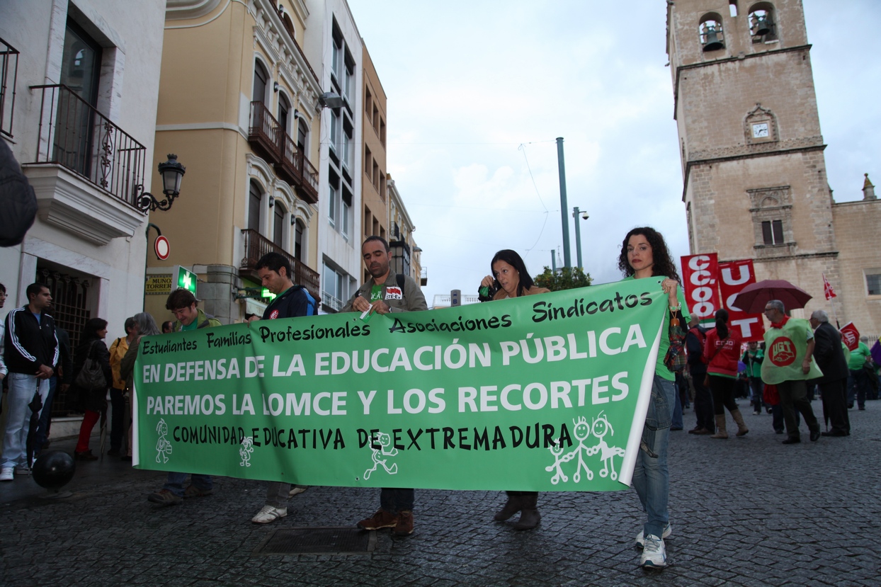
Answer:
[[[815,310],[809,320],[792,318],[778,300],[768,301],[765,316],[771,327],[764,341],[752,340],[745,348],[724,309],[716,312],[714,328],[706,329],[697,320],[690,324],[688,366],[681,379],[685,397],[694,400],[697,420],[689,434],[728,438],[727,409],[737,424],[736,435],[746,435],[749,429],[737,405],[737,398],[742,397],[749,399],[753,415],[772,415],[774,432],[787,435],[784,444],[801,442],[801,419],[811,441],[850,435],[848,409],[854,407],[855,399],[864,410],[866,398],[878,397],[878,367],[866,344],[868,337],[862,337],[857,349],[850,351],[825,310]],[[768,360],[767,346],[781,336],[794,346],[774,352],[794,354],[781,361]],[[782,362],[788,364],[781,366]],[[811,407],[817,393],[825,431],[820,430]]]

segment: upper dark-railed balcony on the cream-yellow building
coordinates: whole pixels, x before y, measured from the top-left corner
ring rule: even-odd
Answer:
[[[248,142],[255,152],[275,166],[278,176],[290,183],[298,196],[309,204],[318,203],[318,170],[263,102],[251,102]]]

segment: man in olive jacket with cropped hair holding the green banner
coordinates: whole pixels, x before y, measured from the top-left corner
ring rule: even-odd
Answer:
[[[411,277],[398,275],[389,267],[391,253],[389,243],[381,236],[368,236],[361,245],[361,256],[370,276],[341,311],[361,312],[362,318],[371,314],[389,312],[417,312],[428,309],[422,290]],[[397,536],[413,533],[412,489],[382,487],[380,509],[358,523],[364,530],[394,528]]]

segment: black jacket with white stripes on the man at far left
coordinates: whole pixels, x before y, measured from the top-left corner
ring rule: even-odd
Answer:
[[[58,338],[52,316],[43,312],[38,323],[27,306],[11,310],[6,315],[4,361],[10,373],[36,375],[41,365],[54,368]]]

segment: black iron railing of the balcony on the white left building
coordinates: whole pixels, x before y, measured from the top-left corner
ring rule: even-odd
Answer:
[[[146,148],[66,85],[32,85],[42,93],[34,165],[61,165],[137,208]]]

